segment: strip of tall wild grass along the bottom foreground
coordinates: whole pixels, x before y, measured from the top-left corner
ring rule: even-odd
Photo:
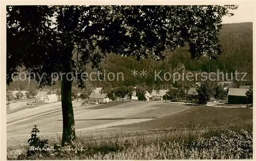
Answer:
[[[57,147],[60,141],[49,143]],[[78,137],[86,151],[49,151],[8,159],[252,159],[252,131],[152,131],[130,136]]]

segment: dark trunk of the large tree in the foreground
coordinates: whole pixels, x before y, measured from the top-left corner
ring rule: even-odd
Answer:
[[[72,53],[72,50],[73,47],[67,52]],[[63,119],[62,146],[66,144],[73,146],[75,141],[75,121],[71,95],[72,80],[70,81],[71,78],[68,78],[68,80],[66,77],[66,74],[72,72],[70,53],[63,53],[62,57],[62,72],[65,73],[61,80],[61,107]]]

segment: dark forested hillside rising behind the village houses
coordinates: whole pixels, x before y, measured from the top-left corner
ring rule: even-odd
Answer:
[[[222,54],[217,60],[210,60],[208,57],[201,59],[191,59],[188,48],[180,48],[175,52],[165,51],[166,59],[164,61],[156,61],[152,58],[136,61],[133,57],[122,57],[120,55],[109,54],[103,59],[99,70],[104,71],[106,75],[109,72],[122,72],[124,81],[116,79],[110,81],[113,86],[118,85],[136,85],[138,83],[165,84],[169,86],[172,81],[154,80],[155,72],[161,71],[173,73],[178,67],[185,72],[217,72],[223,71],[227,73],[242,72],[247,73],[246,79],[249,81],[240,82],[238,85],[252,85],[252,22],[224,24],[220,31],[220,43],[222,44]],[[146,76],[131,75],[132,70],[147,71]],[[92,70],[90,65],[87,72]],[[139,73],[139,72],[138,72]],[[162,74],[163,75],[163,74]],[[93,86],[102,86],[105,81],[92,81]],[[194,82],[176,82],[174,86],[189,86]],[[12,83],[13,84],[13,83]],[[14,84],[23,84],[19,88],[22,90],[26,85],[14,82]],[[16,86],[14,85],[14,86]],[[13,85],[12,85],[13,86]],[[17,87],[17,86],[16,86]]]

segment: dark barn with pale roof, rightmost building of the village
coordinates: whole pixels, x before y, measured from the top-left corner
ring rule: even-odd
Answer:
[[[229,104],[247,104],[246,91],[248,88],[229,88],[228,103]]]

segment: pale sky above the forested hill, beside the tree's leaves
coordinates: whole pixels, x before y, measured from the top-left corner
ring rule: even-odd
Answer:
[[[253,22],[255,20],[255,5],[251,2],[239,4],[237,10],[233,10],[233,16],[225,16],[222,18],[223,24],[237,23],[237,22]]]

